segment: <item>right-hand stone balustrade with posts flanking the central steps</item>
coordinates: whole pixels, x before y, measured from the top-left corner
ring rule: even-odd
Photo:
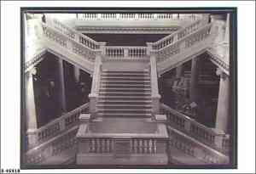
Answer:
[[[157,64],[156,57],[152,51],[152,43],[147,43],[147,54],[150,58],[150,84],[151,84],[151,100],[153,106],[153,115],[160,113],[160,94],[158,90],[158,79],[157,79]]]

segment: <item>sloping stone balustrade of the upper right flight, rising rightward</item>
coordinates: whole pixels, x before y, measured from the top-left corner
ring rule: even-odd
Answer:
[[[172,59],[172,56],[177,55],[178,53],[183,53],[183,50],[191,48],[196,43],[203,42],[213,33],[212,24],[208,24],[183,37],[177,42],[173,42],[165,48],[154,50],[154,53],[156,53],[157,62]]]

